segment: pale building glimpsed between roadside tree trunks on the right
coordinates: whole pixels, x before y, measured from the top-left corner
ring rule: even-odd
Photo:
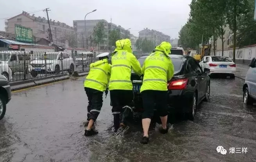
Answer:
[[[230,48],[230,46],[233,45],[233,35],[234,33],[229,29],[229,25],[227,25],[224,28],[224,35],[223,35],[223,41],[224,41],[224,49],[228,49]],[[213,36],[209,39],[209,44],[211,44],[213,49]],[[218,37],[218,39],[215,41],[215,49],[216,50],[221,50],[222,49],[222,40],[220,39],[220,37]]]

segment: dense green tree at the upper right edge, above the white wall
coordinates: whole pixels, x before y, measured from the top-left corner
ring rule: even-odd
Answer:
[[[237,19],[237,46],[243,47],[256,44],[256,21],[254,17],[254,0],[249,0],[248,13]]]

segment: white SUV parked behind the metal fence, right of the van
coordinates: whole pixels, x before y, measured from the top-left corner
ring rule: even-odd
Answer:
[[[45,72],[47,72],[47,74],[58,74],[61,71],[68,71],[72,74],[74,71],[73,58],[69,53],[47,52],[46,56],[42,54],[36,55],[36,57],[35,60],[29,63],[32,77],[36,77],[38,74],[45,74]]]

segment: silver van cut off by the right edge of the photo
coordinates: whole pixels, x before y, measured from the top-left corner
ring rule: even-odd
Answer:
[[[252,58],[249,70],[245,76],[243,84],[243,102],[252,105],[256,102],[256,59]]]

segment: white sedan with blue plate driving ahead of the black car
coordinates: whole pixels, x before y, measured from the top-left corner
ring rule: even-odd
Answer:
[[[225,74],[231,78],[235,78],[236,64],[229,57],[224,56],[204,56],[199,65],[210,69],[208,75],[211,74]]]

